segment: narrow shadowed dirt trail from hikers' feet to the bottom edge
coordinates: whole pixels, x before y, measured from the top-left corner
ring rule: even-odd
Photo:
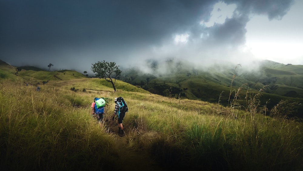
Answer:
[[[161,166],[157,165],[156,162],[142,152],[138,152],[135,149],[128,148],[127,146],[127,136],[120,137],[118,135],[118,128],[110,128],[113,133],[116,133],[116,145],[120,151],[121,162],[122,162],[122,171],[154,171],[154,170],[164,170]]]

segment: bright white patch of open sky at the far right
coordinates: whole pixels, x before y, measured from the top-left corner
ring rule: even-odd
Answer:
[[[303,1],[295,1],[281,20],[253,16],[247,23],[246,46],[258,59],[303,65]],[[261,23],[261,26],[260,26]]]

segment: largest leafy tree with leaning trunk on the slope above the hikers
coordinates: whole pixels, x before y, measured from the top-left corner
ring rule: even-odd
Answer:
[[[106,81],[111,82],[114,91],[116,91],[116,77],[118,77],[122,72],[119,69],[119,65],[116,65],[115,62],[107,62],[105,60],[103,60],[102,62],[98,61],[97,63],[92,65],[92,71],[93,73],[96,73],[96,77],[100,79],[104,78]],[[115,79],[115,81],[113,81],[113,79]]]

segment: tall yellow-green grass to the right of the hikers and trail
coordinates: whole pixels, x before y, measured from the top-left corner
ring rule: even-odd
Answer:
[[[129,145],[176,169],[300,170],[302,122],[264,115],[259,97],[247,93],[246,106],[232,101],[227,108],[156,96],[129,99]]]

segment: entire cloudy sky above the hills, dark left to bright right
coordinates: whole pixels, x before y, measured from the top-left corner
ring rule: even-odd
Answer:
[[[102,60],[303,65],[302,9],[302,0],[0,0],[0,59],[80,72]]]

